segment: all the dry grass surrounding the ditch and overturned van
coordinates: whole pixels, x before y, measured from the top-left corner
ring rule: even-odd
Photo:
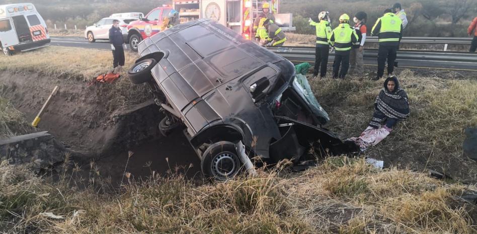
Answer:
[[[47,57],[45,53],[51,56],[48,60],[35,59]],[[128,55],[128,63],[133,58]],[[0,70],[85,82],[109,68],[111,53],[50,47],[0,57],[0,62]],[[126,168],[118,189],[95,163],[80,167],[66,158],[63,171],[52,178],[34,175],[28,165],[4,161],[0,232],[476,233],[475,206],[459,196],[477,191],[477,167],[462,157],[463,130],[477,126],[477,79],[456,73],[424,76],[411,70],[398,76],[409,95],[411,116],[366,153],[392,161],[388,169],[337,157],[303,173],[282,170],[285,162],[273,171],[259,170],[256,178],[208,183],[185,179],[174,165],[175,173],[168,178],[144,165],[151,178],[136,181]],[[330,114],[327,127],[342,138],[359,135],[372,116],[382,81],[355,76],[309,81]],[[127,79],[117,84],[128,90],[123,101],[134,98]],[[11,126],[23,126],[21,113],[6,100],[0,100],[0,110],[7,113],[0,115],[0,135],[14,132],[8,130]],[[420,173],[429,166],[453,173],[455,180],[444,182]]]

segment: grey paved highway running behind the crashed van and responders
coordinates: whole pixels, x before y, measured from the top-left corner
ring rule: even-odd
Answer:
[[[90,43],[82,37],[51,37],[51,45],[106,50],[111,49],[106,40],[97,40],[95,43]],[[312,47],[284,47],[270,49],[294,63],[309,62],[312,65],[314,63],[314,48]],[[376,66],[376,56],[376,49],[366,50],[364,57],[365,65]],[[331,54],[329,59],[330,63],[333,60],[334,56]],[[465,70],[477,72],[477,63],[475,62],[477,61],[477,53],[401,50],[398,51],[397,61],[399,61],[399,67],[405,68]]]

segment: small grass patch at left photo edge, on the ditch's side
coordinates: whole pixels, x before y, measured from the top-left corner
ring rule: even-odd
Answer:
[[[23,113],[0,97],[0,139],[25,134],[32,130]]]

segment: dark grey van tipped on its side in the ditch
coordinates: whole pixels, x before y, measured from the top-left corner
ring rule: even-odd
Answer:
[[[310,148],[322,155],[350,150],[322,127],[328,114],[306,97],[307,81],[295,79],[290,61],[215,21],[175,26],[143,40],[138,51],[129,79],[150,86],[166,113],[163,134],[185,127],[207,177],[226,180],[240,171],[239,141],[249,157],[270,163],[298,162]]]

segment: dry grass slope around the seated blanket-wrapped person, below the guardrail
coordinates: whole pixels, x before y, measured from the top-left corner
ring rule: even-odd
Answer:
[[[367,150],[368,157],[400,168],[432,168],[475,183],[477,165],[462,157],[464,129],[477,126],[477,81],[425,77],[410,70],[398,74],[409,96],[411,116],[389,137]],[[328,127],[342,138],[358,136],[372,117],[383,81],[311,79],[317,100],[330,114]]]

